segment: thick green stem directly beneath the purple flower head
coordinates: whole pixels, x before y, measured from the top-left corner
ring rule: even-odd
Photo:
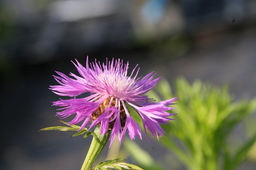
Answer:
[[[84,159],[83,166],[81,170],[90,170],[90,167],[93,165],[95,159],[99,156],[99,153],[103,150],[106,143],[108,142],[111,130],[108,130],[107,133],[102,136],[99,134],[99,127],[96,127],[94,130],[95,135],[93,135],[93,141],[88,150],[87,156]]]

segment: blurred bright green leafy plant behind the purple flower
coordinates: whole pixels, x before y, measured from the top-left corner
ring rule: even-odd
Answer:
[[[167,81],[159,82],[150,96],[160,100],[173,96]],[[163,125],[162,142],[188,170],[234,170],[246,158],[256,141],[256,132],[241,139],[238,149],[230,147],[228,138],[244,118],[256,110],[256,99],[235,101],[227,86],[216,88],[197,80],[190,85],[177,79],[175,96],[178,113],[171,126]],[[255,130],[254,130],[255,131]]]

